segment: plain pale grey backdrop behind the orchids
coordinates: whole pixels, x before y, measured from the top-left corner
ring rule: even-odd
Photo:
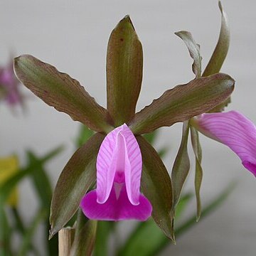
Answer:
[[[233,104],[256,123],[256,16],[255,1],[223,1],[231,26],[231,45],[223,72],[236,80]],[[175,31],[191,31],[201,44],[203,65],[213,51],[220,28],[217,1],[36,1],[0,0],[0,63],[15,55],[30,53],[78,79],[103,106],[105,55],[112,28],[130,14],[144,47],[144,80],[137,109],[148,105],[164,90],[193,79],[191,58]],[[24,163],[24,149],[44,154],[65,144],[64,154],[48,165],[55,184],[73,153],[78,122],[56,112],[28,95],[27,114],[12,114],[1,105],[0,154],[15,152]],[[161,129],[157,148],[170,146],[165,164],[171,169],[181,137],[181,124]],[[203,146],[202,200],[205,205],[232,180],[239,180],[228,201],[190,230],[171,255],[255,255],[255,178],[226,146],[201,136]],[[193,189],[193,167],[186,191]],[[21,184],[20,205],[29,222],[37,202],[29,181]],[[195,202],[189,213],[195,211]],[[121,233],[126,233],[126,226]],[[41,235],[35,238],[42,248]],[[168,252],[166,252],[168,255]]]

